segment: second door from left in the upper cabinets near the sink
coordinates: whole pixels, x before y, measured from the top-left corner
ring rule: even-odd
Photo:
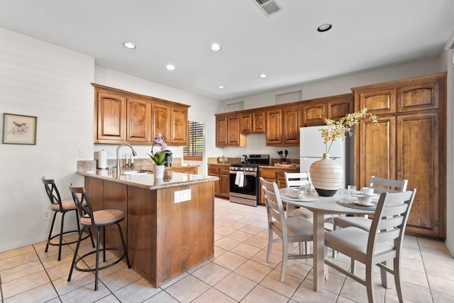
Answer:
[[[126,99],[126,140],[150,141],[150,103],[138,99]]]

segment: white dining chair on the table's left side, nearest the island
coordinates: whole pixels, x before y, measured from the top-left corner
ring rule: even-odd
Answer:
[[[268,220],[267,262],[270,262],[271,259],[273,243],[282,242],[280,282],[284,282],[288,259],[313,258],[312,254],[302,254],[301,250],[298,255],[289,254],[289,243],[301,243],[314,240],[313,224],[302,216],[291,216],[286,218],[276,182],[268,182],[260,177],[260,183],[262,184],[262,190],[265,197]],[[277,235],[277,238],[274,238],[274,234]]]

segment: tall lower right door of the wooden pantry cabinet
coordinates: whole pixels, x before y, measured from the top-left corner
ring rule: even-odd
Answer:
[[[445,230],[440,190],[445,172],[438,164],[444,148],[438,127],[437,113],[397,117],[397,178],[409,180],[408,189],[417,189],[407,231],[432,236],[444,236]]]

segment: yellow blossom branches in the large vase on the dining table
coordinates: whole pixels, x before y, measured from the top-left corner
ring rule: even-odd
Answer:
[[[377,116],[372,115],[367,112],[367,109],[362,109],[355,113],[346,114],[343,118],[339,121],[334,121],[331,119],[325,119],[325,123],[328,128],[320,129],[321,136],[323,137],[323,141],[325,143],[325,153],[329,153],[331,149],[331,145],[337,138],[341,138],[342,140],[345,139],[345,136],[348,135],[349,137],[353,135],[351,129],[353,126],[360,123],[361,119],[369,118],[372,120],[372,123],[377,125]]]

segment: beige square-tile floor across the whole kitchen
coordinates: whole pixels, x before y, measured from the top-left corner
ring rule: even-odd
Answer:
[[[74,236],[70,236],[74,238]],[[44,252],[37,243],[0,253],[2,302],[367,302],[365,287],[330,269],[323,292],[314,292],[311,259],[289,260],[279,282],[280,250],[273,246],[267,263],[265,207],[215,201],[215,255],[159,288],[125,263],[100,272],[94,292],[92,272],[74,272],[67,282],[74,245]],[[84,241],[88,251],[89,241]],[[328,252],[330,255],[331,252]],[[348,268],[342,255],[338,264]],[[93,265],[90,258],[87,265]],[[454,259],[443,241],[406,235],[402,256],[406,302],[454,302]],[[358,266],[358,272],[363,271]],[[394,288],[384,289],[376,273],[377,302],[397,302]],[[392,279],[390,279],[392,280]]]

